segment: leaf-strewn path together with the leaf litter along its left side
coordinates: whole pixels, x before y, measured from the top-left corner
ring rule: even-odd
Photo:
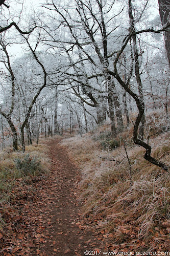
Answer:
[[[102,234],[95,233],[88,219],[81,217],[81,172],[59,141],[48,142],[50,173],[22,187],[20,194],[27,196],[15,202],[19,214],[9,214],[1,255],[81,256],[85,250],[107,251]]]

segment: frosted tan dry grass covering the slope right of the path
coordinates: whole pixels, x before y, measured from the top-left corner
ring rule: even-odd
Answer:
[[[105,129],[106,130],[106,129]],[[170,231],[170,174],[143,159],[144,150],[132,145],[131,129],[120,135],[127,145],[101,150],[102,128],[83,137],[65,139],[62,144],[82,169],[81,199],[83,214],[98,220],[98,228],[113,234],[112,242],[141,249],[167,249]],[[170,163],[169,132],[150,139],[152,155]],[[116,160],[116,161],[113,161]],[[112,160],[112,161],[110,161]],[[96,221],[95,221],[96,225]],[[168,242],[167,242],[168,241]]]

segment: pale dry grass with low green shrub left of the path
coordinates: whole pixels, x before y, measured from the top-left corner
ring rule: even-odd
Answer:
[[[30,184],[33,177],[47,172],[49,164],[45,156],[47,146],[33,144],[26,147],[26,153],[11,152],[10,148],[0,153],[0,230],[3,231],[6,217],[13,211],[11,200],[18,195],[21,187]],[[19,195],[23,197],[24,195]]]

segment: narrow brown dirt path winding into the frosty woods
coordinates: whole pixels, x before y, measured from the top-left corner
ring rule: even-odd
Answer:
[[[46,202],[45,227],[50,239],[41,248],[43,255],[84,255],[85,250],[99,248],[102,244],[94,233],[87,229],[81,219],[80,203],[77,198],[79,170],[70,162],[65,150],[56,141],[49,143],[52,160],[52,182],[44,193],[50,193]],[[41,246],[40,246],[41,247]]]

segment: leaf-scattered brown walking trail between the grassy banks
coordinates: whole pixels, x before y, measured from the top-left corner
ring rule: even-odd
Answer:
[[[39,222],[35,223],[33,239],[37,247],[32,247],[29,255],[74,256],[84,255],[85,250],[101,249],[102,241],[81,218],[77,197],[79,170],[70,162],[59,140],[51,140],[48,146],[51,175],[37,184],[41,198],[34,205],[36,211],[32,212]]]

